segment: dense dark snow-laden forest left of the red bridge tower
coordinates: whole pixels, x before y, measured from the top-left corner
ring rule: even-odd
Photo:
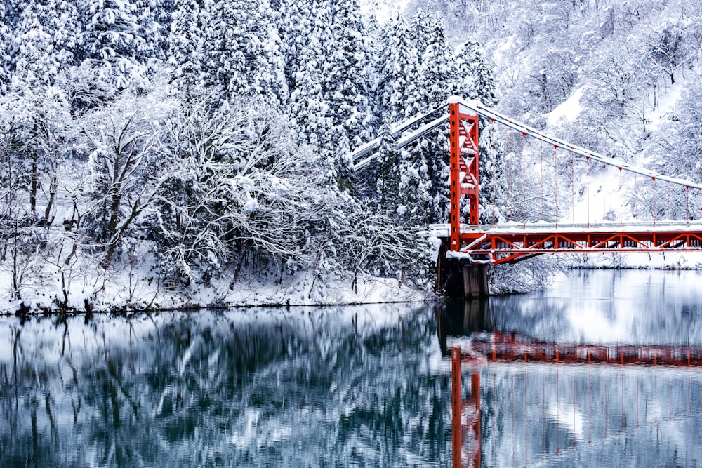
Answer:
[[[494,100],[482,48],[454,54],[432,13],[9,0],[0,19],[8,307],[106,307],[118,280],[126,307],[201,288],[225,305],[296,272],[310,297],[331,277],[431,283],[419,232],[446,217],[445,141],[383,145],[362,173],[346,155],[449,95]]]

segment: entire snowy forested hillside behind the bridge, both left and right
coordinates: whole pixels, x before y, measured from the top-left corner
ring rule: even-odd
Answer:
[[[701,6],[410,1],[380,22],[358,0],[6,1],[4,303],[91,309],[121,281],[126,307],[203,288],[226,305],[300,272],[307,300],[332,277],[425,287],[446,135],[396,151],[389,131],[450,95],[701,180]],[[348,152],[376,135],[378,159],[353,171]],[[499,133],[482,145],[481,213],[505,220],[515,156]]]

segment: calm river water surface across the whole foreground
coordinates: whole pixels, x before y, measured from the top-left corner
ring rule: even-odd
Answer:
[[[3,318],[0,467],[450,467],[447,352],[512,331],[702,346],[702,274],[576,271],[489,303]],[[474,375],[465,466],[702,465],[700,368],[483,360],[466,401]]]

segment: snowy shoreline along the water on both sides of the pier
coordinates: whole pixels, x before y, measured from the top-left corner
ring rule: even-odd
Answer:
[[[545,288],[564,269],[702,269],[702,253],[603,253],[570,255],[559,262],[503,267],[491,277],[491,293],[526,293]],[[506,268],[506,269],[505,269]],[[538,275],[536,274],[538,273]],[[550,280],[541,276],[550,276]],[[541,276],[539,276],[541,275]],[[536,276],[541,278],[536,281]],[[20,298],[12,297],[11,272],[0,272],[0,314],[129,313],[144,310],[176,310],[258,306],[356,305],[392,302],[420,302],[435,297],[397,279],[359,277],[357,287],[347,277],[320,279],[313,272],[267,274],[232,281],[223,276],[208,284],[197,283],[168,288],[150,271],[143,269],[91,270],[82,274],[48,274],[23,279]],[[531,281],[527,281],[529,279]],[[522,287],[515,287],[517,286]]]

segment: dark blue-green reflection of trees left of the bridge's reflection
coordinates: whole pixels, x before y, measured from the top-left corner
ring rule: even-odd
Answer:
[[[69,319],[63,357],[62,327],[13,324],[22,333],[16,366],[0,369],[9,422],[0,427],[0,465],[447,460],[450,388],[432,370],[430,311],[385,325],[373,317],[359,307],[249,320]]]

